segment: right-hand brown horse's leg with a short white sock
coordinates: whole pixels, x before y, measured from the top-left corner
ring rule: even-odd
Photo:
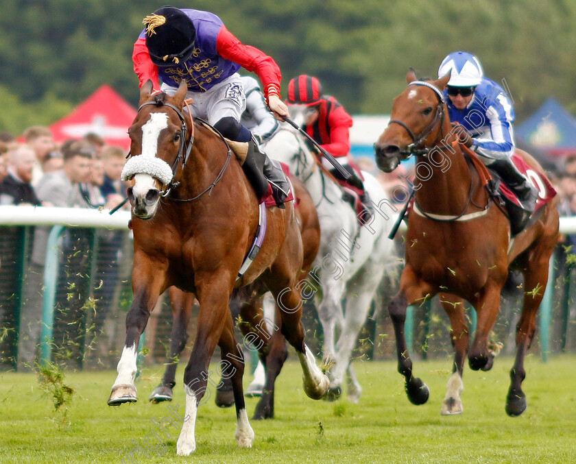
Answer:
[[[460,393],[464,390],[462,382],[462,372],[464,371],[464,361],[468,354],[470,345],[470,333],[464,315],[464,300],[454,295],[440,293],[440,304],[450,317],[451,329],[450,339],[454,347],[454,364],[452,376],[446,385],[446,396],[442,402],[442,415],[459,414],[464,411]]]

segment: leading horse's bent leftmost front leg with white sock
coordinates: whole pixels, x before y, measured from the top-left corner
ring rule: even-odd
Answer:
[[[165,290],[165,269],[152,262],[145,266],[134,266],[132,290],[134,300],[126,315],[126,343],[118,362],[118,376],[108,399],[110,406],[137,401],[134,378],[137,370],[138,344],[158,296]]]

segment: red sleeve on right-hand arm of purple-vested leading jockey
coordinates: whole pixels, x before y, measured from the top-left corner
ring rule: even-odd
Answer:
[[[220,27],[218,32],[216,51],[222,58],[235,62],[252,73],[256,73],[262,82],[266,99],[268,99],[269,95],[278,95],[280,97],[280,80],[282,79],[280,68],[263,51],[250,47],[250,45],[243,45],[224,26]]]

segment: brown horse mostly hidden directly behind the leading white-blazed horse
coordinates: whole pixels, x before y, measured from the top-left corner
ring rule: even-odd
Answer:
[[[296,218],[300,225],[304,257],[302,260],[302,273],[298,280],[302,280],[307,276],[320,247],[320,223],[314,202],[302,181],[291,177],[291,182],[294,194],[299,200],[296,208]],[[256,347],[259,347],[259,354],[266,367],[266,383],[262,397],[256,406],[253,419],[269,419],[274,417],[274,383],[286,361],[288,352],[285,338],[276,325],[276,323],[281,323],[280,318],[276,317],[276,323],[274,321],[263,321],[262,297],[252,287],[246,286],[232,293],[230,306],[233,305],[239,309],[237,311],[233,310],[232,313],[239,316],[239,327],[244,337],[252,333],[261,335]],[[172,400],[172,389],[176,385],[178,356],[184,350],[188,339],[187,327],[194,303],[194,295],[186,293],[175,286],[170,287],[169,297],[172,306],[170,353],[162,382],[154,389],[149,398],[154,403]],[[273,324],[272,334],[264,331],[266,322]],[[216,404],[221,407],[228,407],[234,404],[230,379],[223,378],[222,382],[219,382]]]

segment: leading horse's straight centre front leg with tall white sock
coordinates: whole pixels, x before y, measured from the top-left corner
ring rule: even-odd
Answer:
[[[194,347],[184,370],[187,420],[182,425],[180,437],[176,443],[176,452],[180,456],[188,456],[196,449],[195,425],[198,406],[210,400],[211,395],[219,386],[217,376],[209,369],[210,360],[221,339],[225,324],[228,320],[232,320],[228,300],[232,293],[235,276],[232,276],[229,271],[221,271],[217,274],[197,272],[195,277],[200,313]],[[238,365],[233,356],[228,357],[230,357],[232,367],[241,368],[243,372],[243,361],[241,360],[241,365]],[[231,369],[227,365],[220,367],[224,369],[222,372],[228,372],[227,369]],[[235,399],[238,401],[236,395]],[[243,398],[241,404],[243,404]]]

